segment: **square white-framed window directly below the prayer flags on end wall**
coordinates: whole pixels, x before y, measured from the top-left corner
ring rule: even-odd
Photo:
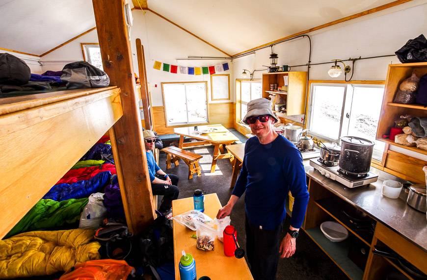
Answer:
[[[161,83],[166,126],[208,122],[207,82]]]

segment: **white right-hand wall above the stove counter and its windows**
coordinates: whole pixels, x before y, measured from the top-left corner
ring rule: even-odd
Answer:
[[[394,54],[407,40],[424,33],[427,35],[427,4],[411,7],[405,10],[371,17],[359,18],[344,24],[334,25],[327,30],[320,29],[308,33],[312,41],[311,63],[327,62],[332,59],[348,59],[349,57],[368,57]],[[270,48],[256,51],[255,54],[233,60],[233,80],[242,78],[242,69],[264,69],[269,65]],[[308,39],[295,39],[274,47],[279,55],[278,65],[301,65],[308,61]],[[400,63],[395,56],[359,60],[355,63],[353,80],[385,80],[388,64]],[[346,62],[347,64],[347,62]],[[310,68],[311,80],[343,80],[344,76],[331,78],[327,71],[332,64],[313,65]],[[342,65],[341,65],[342,66]],[[307,71],[307,67],[294,67],[292,71]],[[255,72],[254,78],[262,78],[263,72]],[[235,92],[235,90],[232,90]],[[427,156],[392,146],[398,150],[427,160]]]

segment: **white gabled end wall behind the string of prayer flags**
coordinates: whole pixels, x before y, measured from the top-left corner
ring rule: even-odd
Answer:
[[[209,99],[211,99],[210,75],[195,76],[159,71],[153,68],[155,60],[168,64],[190,67],[211,66],[228,62],[230,70],[222,72],[221,74],[231,74],[232,72],[232,63],[230,60],[188,60],[187,56],[224,57],[225,54],[149,11],[133,10],[131,48],[133,54],[133,70],[137,74],[136,38],[141,39],[142,45],[144,46],[147,79],[152,86],[153,106],[163,105],[161,82],[208,81],[208,96]],[[69,62],[82,60],[83,54],[81,52],[80,43],[98,43],[97,31],[91,31],[71,43],[43,56],[41,58],[44,64],[43,71],[61,70],[62,67]],[[230,83],[232,83],[231,78]],[[232,96],[234,98],[233,94]],[[212,101],[210,100],[210,102]]]

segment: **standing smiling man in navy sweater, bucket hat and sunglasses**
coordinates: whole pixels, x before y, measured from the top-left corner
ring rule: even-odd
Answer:
[[[240,196],[245,196],[246,252],[255,280],[276,279],[278,258],[294,255],[298,230],[304,220],[309,194],[302,156],[293,143],[274,131],[277,121],[270,102],[248,102],[243,122],[256,137],[245,145],[243,164],[227,205],[218,219],[230,215]],[[291,226],[280,241],[288,192],[294,196]]]

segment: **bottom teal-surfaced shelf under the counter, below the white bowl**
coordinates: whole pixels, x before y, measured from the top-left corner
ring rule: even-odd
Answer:
[[[331,242],[323,235],[320,227],[306,229],[305,232],[341,268],[348,278],[353,280],[362,279],[363,271],[347,257],[348,239],[341,242]]]

